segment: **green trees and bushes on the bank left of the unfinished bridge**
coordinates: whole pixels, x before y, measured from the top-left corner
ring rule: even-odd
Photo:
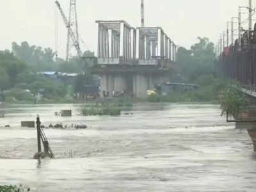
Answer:
[[[84,52],[85,56],[93,56],[93,52]],[[42,102],[70,101],[72,91],[81,83],[92,83],[90,74],[80,75],[79,81],[67,84],[38,75],[38,72],[57,71],[81,74],[86,70],[81,58],[73,57],[70,61],[55,58],[51,48],[36,47],[22,42],[13,42],[12,51],[0,51],[0,93],[7,102],[35,102],[35,95],[44,95]],[[80,80],[83,81],[80,81]],[[80,83],[80,84],[79,84]],[[68,98],[68,99],[67,99]]]

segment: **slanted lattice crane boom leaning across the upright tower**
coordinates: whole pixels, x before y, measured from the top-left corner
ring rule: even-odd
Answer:
[[[70,34],[70,37],[71,37],[72,42],[74,44],[74,47],[76,48],[77,55],[79,56],[79,58],[83,58],[83,53],[82,53],[82,51],[80,49],[79,42],[76,39],[74,31],[72,31],[72,28],[70,27],[70,23],[68,22],[67,17],[66,17],[65,13],[63,12],[63,10],[62,10],[62,8],[60,6],[60,3],[58,1],[55,1],[55,3],[57,4],[58,9],[60,10],[60,13],[61,13],[61,16],[62,16],[62,19],[63,19],[63,21],[65,23],[66,28],[69,31],[69,34]]]

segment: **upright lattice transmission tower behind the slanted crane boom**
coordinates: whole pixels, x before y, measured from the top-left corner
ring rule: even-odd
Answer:
[[[66,60],[68,61],[71,57],[71,50],[74,47],[74,42],[71,40],[71,31],[74,31],[74,37],[76,38],[77,43],[79,44],[79,33],[78,33],[78,25],[77,25],[77,12],[76,12],[76,0],[70,0],[69,7],[69,16],[68,16],[68,25],[71,30],[68,30],[67,36],[67,52],[66,52]],[[79,46],[79,45],[78,45]]]

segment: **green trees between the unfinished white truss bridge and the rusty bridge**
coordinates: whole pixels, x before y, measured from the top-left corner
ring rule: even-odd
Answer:
[[[215,74],[214,44],[208,38],[198,37],[198,43],[191,49],[179,47],[175,83],[195,83],[199,88],[191,92],[170,92],[166,96],[150,95],[150,102],[204,102],[218,99],[218,94],[225,83]]]

